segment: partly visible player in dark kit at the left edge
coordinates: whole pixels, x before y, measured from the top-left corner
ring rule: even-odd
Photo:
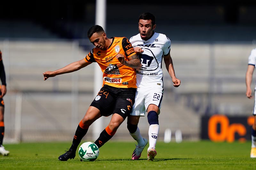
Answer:
[[[7,156],[10,152],[6,151],[3,146],[4,139],[4,100],[3,97],[6,94],[6,80],[5,80],[5,71],[4,63],[2,60],[2,52],[0,51],[0,78],[2,86],[0,86],[1,96],[0,96],[0,153],[4,156]]]

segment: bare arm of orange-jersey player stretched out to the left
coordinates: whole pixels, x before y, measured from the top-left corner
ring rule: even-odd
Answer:
[[[54,77],[54,76],[57,76],[57,75],[60,75],[60,74],[71,73],[71,72],[80,70],[80,69],[84,68],[85,66],[87,66],[89,64],[91,64],[91,63],[87,63],[87,62],[84,61],[84,59],[82,59],[80,61],[70,63],[67,66],[65,66],[61,69],[55,70],[55,71],[46,71],[46,72],[43,73],[44,80],[47,80],[47,78],[49,78],[49,77]]]

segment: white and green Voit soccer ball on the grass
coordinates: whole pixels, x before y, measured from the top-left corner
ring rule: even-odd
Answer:
[[[93,142],[85,142],[81,144],[78,150],[79,157],[83,161],[95,161],[99,157],[99,148]]]

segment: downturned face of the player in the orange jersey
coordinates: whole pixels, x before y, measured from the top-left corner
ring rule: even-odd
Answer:
[[[89,38],[91,43],[100,49],[106,50],[106,33],[93,33],[91,38]]]

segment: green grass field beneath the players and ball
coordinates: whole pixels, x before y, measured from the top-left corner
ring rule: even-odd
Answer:
[[[0,156],[1,169],[111,169],[111,170],[159,170],[159,169],[256,169],[256,159],[250,158],[251,142],[214,143],[210,141],[157,143],[157,156],[147,160],[145,149],[139,160],[132,160],[135,143],[109,141],[100,148],[94,162],[80,162],[76,158],[62,162],[59,155],[70,143],[21,143],[5,144],[9,156]],[[148,146],[148,145],[147,145]]]

